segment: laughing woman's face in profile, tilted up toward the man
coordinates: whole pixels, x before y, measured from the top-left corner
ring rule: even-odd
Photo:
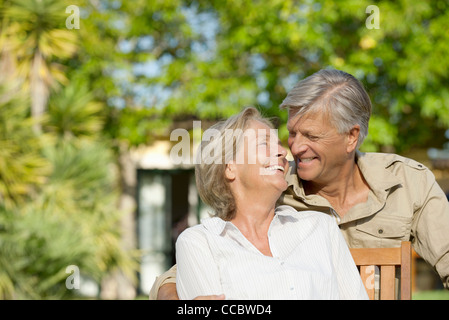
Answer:
[[[287,189],[285,173],[287,151],[282,147],[277,130],[252,120],[236,155],[236,179],[250,190],[265,188],[279,195]]]

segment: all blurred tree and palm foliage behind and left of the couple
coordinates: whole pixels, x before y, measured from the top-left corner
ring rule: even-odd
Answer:
[[[79,29],[66,28],[69,5]],[[275,117],[285,141],[279,104],[322,68],[353,74],[372,98],[364,150],[439,147],[449,128],[444,0],[0,0],[0,20],[3,298],[66,295],[69,264],[97,280],[133,274],[121,146],[246,105]]]

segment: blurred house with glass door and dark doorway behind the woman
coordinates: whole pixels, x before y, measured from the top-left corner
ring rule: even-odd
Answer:
[[[137,177],[136,245],[143,252],[138,290],[144,295],[175,264],[178,235],[208,216],[195,186],[194,165],[175,165],[170,158],[175,143],[159,140],[130,152]]]

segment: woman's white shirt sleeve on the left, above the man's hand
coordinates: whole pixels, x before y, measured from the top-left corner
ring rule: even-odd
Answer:
[[[224,293],[218,266],[201,227],[185,230],[176,241],[176,290],[181,300]]]

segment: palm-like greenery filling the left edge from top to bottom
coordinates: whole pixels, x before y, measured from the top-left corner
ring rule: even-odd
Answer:
[[[137,256],[121,243],[103,104],[83,77],[90,70],[71,72],[79,34],[65,29],[68,4],[1,2],[1,76],[22,89],[2,87],[0,99],[3,298],[71,296],[64,280],[72,264],[98,282],[117,269],[136,280]]]

